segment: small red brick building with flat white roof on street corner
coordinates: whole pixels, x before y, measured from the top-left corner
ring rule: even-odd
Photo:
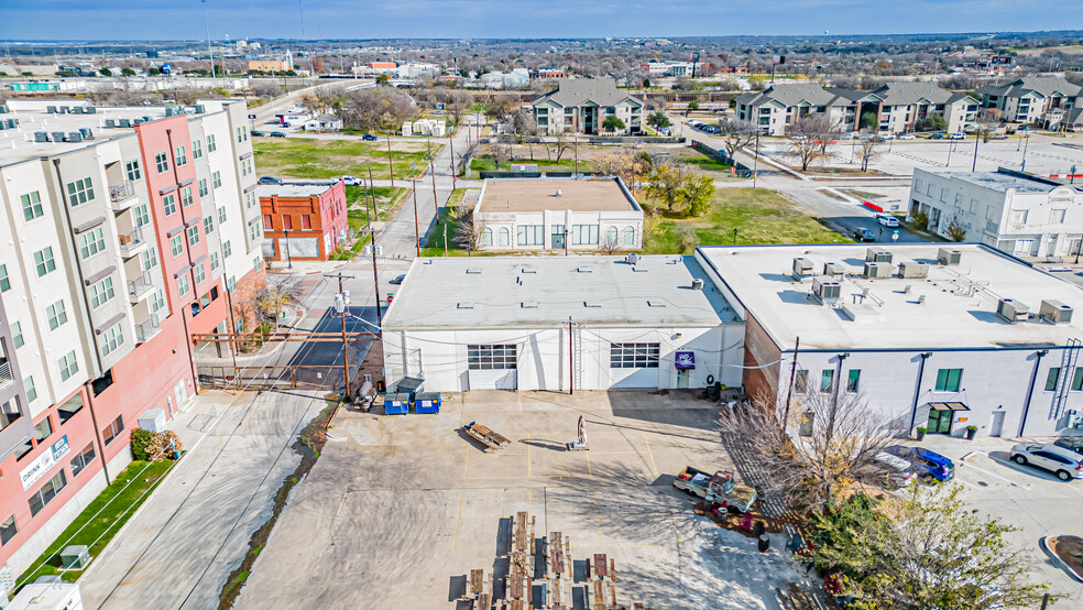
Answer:
[[[326,261],[349,241],[341,179],[261,184],[256,194],[263,213],[265,258]]]

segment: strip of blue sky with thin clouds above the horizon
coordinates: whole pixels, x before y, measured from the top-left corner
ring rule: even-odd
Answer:
[[[0,0],[0,40],[889,34],[1083,26],[1077,0]],[[302,19],[302,13],[304,19]]]

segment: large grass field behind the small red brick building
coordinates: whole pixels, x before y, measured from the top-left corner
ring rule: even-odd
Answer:
[[[260,175],[281,178],[325,179],[342,175],[387,179],[387,142],[317,140],[314,138],[254,138],[255,165]],[[439,154],[442,144],[433,144]],[[426,164],[425,142],[392,142],[395,178],[422,174]]]

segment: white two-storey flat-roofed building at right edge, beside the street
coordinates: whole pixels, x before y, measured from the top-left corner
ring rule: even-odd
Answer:
[[[929,230],[1018,257],[1063,257],[1080,249],[1083,189],[1022,172],[929,172],[915,168],[908,216]],[[956,229],[953,229],[956,227]]]

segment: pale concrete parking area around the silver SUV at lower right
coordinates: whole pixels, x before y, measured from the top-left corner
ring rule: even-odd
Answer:
[[[921,446],[955,462],[955,480],[964,487],[962,497],[969,504],[1019,527],[1005,540],[1030,553],[1037,577],[1064,596],[1055,608],[1083,608],[1083,585],[1072,579],[1038,546],[1042,536],[1083,535],[1083,512],[1080,511],[1083,481],[1063,482],[1044,470],[1010,461],[1008,454],[1017,442],[926,437]]]

